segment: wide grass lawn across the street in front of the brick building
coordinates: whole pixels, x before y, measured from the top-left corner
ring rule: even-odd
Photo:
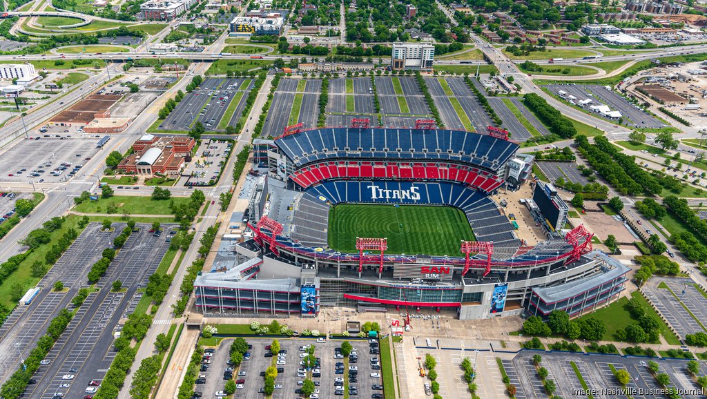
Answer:
[[[75,212],[85,214],[105,213],[105,209],[110,204],[118,207],[119,214],[148,214],[148,215],[169,215],[170,201],[174,200],[175,205],[189,202],[188,197],[172,197],[168,200],[153,200],[150,197],[132,197],[129,195],[115,195],[110,198],[100,198],[96,202],[83,202],[74,207]]]

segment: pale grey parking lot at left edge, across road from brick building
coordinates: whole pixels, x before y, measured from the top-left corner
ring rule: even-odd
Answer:
[[[98,139],[95,138],[36,138],[17,141],[17,144],[0,155],[3,159],[0,164],[0,182],[66,181],[71,178],[74,166],[88,162],[99,150],[95,145]],[[82,175],[81,170],[76,174]]]

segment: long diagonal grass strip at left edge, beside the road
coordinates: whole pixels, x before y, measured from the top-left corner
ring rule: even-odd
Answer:
[[[10,294],[11,287],[14,284],[20,284],[23,293],[37,285],[37,282],[40,281],[40,277],[32,277],[32,268],[30,266],[37,260],[45,262],[45,255],[47,254],[47,251],[49,251],[49,248],[52,248],[52,245],[57,243],[59,238],[62,238],[66,234],[66,231],[69,231],[69,229],[76,229],[76,231],[80,234],[82,229],[78,228],[78,219],[80,219],[78,216],[66,216],[66,220],[64,221],[64,224],[62,224],[62,228],[52,231],[52,233],[49,234],[52,241],[33,250],[33,252],[20,263],[17,271],[4,279],[2,284],[0,284],[0,303],[8,308],[14,308],[17,305],[16,302],[11,300]]]

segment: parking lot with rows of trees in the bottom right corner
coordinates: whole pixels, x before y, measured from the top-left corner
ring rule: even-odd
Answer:
[[[586,397],[586,395],[579,395],[575,391],[580,389],[582,385],[572,368],[571,362],[577,366],[588,388],[595,391],[592,393],[595,398],[626,398],[626,395],[619,393],[621,386],[619,386],[609,364],[614,366],[614,369],[624,369],[631,374],[631,382],[626,388],[629,389],[633,398],[660,397],[646,394],[648,389],[658,389],[660,387],[648,370],[648,359],[643,357],[617,357],[606,354],[585,356],[583,354],[562,352],[523,351],[513,359],[513,362],[503,362],[506,373],[510,378],[510,383],[518,387],[516,398],[547,398],[547,393],[544,392],[542,382],[537,377],[537,371],[532,364],[533,354],[542,356],[540,365],[549,371],[547,378],[555,381],[557,386],[555,395],[560,395],[563,398]],[[681,395],[682,398],[702,397],[697,394],[699,390],[686,374],[686,361],[675,359],[653,359],[653,361],[660,366],[659,374],[665,373],[670,376],[671,386],[684,390]],[[511,363],[513,367],[509,368],[508,366]],[[509,369],[511,370],[510,373]],[[518,372],[519,369],[520,372]],[[520,374],[520,376],[516,376],[516,374]]]

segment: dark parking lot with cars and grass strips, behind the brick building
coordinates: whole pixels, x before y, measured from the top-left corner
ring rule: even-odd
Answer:
[[[252,79],[207,78],[198,89],[187,93],[158,129],[188,131],[194,123],[201,122],[207,131],[223,130],[219,128],[228,106],[238,101],[238,106],[229,117],[228,125],[235,125],[245,108],[245,99],[252,87]]]

